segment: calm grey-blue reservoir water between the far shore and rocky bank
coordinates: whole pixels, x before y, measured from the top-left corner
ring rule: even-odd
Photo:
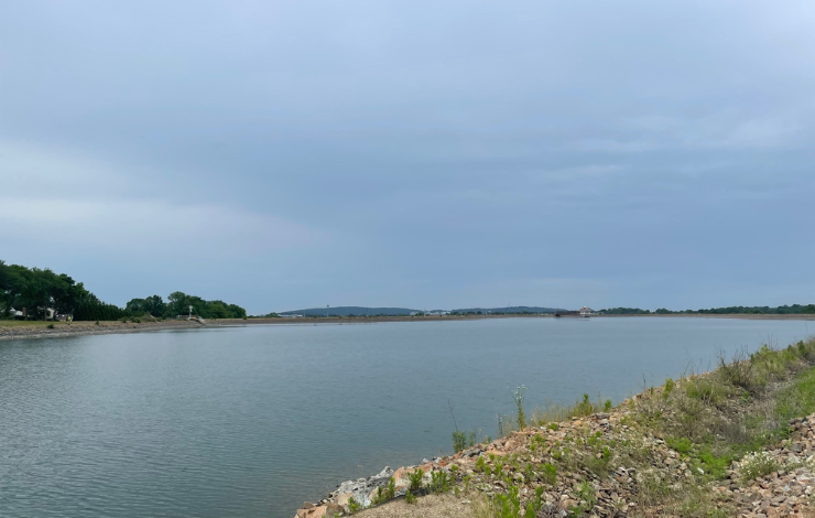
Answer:
[[[0,515],[290,518],[347,478],[496,435],[584,392],[619,400],[786,345],[800,321],[502,319],[0,342]]]

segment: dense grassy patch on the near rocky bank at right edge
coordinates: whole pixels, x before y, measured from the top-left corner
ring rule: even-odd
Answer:
[[[639,424],[662,431],[669,447],[704,472],[703,479],[722,479],[735,461],[785,439],[791,419],[815,412],[813,358],[815,341],[762,346],[730,363],[720,356],[713,373],[643,392],[633,403],[635,416]],[[771,464],[757,461],[753,472]]]

